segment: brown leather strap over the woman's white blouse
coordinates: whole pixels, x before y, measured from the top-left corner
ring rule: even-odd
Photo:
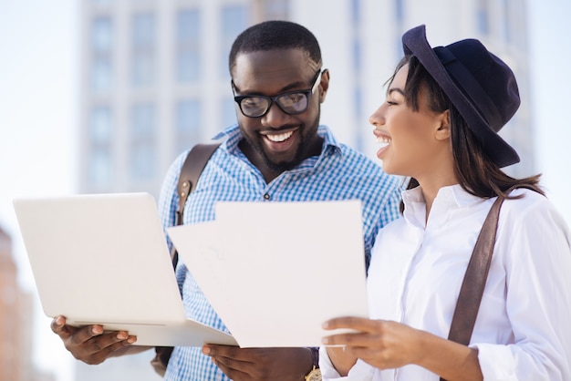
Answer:
[[[468,268],[464,274],[448,335],[448,340],[455,343],[470,344],[476,316],[480,309],[480,302],[482,302],[483,289],[490,271],[490,263],[492,263],[495,233],[498,228],[500,208],[504,200],[504,197],[498,197],[493,202],[492,208],[483,221],[482,231],[478,235],[470,263],[468,263]],[[441,378],[441,381],[444,379]]]

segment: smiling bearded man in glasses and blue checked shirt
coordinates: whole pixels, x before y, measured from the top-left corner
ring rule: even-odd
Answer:
[[[321,66],[317,39],[294,23],[265,22],[236,38],[229,68],[238,125],[215,137],[225,141],[202,171],[186,203],[184,223],[213,220],[217,201],[358,199],[369,257],[379,229],[398,216],[398,180],[338,144],[331,131],[319,125],[320,104],[329,86],[329,72]],[[176,184],[185,157],[183,153],[172,164],[161,190],[165,228],[174,224]],[[186,314],[226,330],[182,263],[177,280]],[[307,283],[308,289],[313,286]],[[54,319],[52,329],[76,358],[88,364],[142,349],[131,346],[136,338],[125,332],[103,334],[100,325],[74,328],[61,316]],[[315,355],[311,348],[176,347],[165,379],[304,380],[316,365]]]

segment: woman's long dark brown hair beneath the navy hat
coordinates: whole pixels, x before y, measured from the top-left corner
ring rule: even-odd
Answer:
[[[458,109],[452,105],[450,98],[444,94],[438,83],[420,65],[416,57],[402,58],[389,82],[392,82],[400,68],[406,64],[409,65],[409,74],[404,91],[407,105],[414,111],[418,111],[419,93],[423,91],[431,111],[450,110],[454,174],[463,190],[483,199],[495,196],[507,198],[509,191],[514,188],[527,188],[545,195],[544,191],[539,188],[540,174],[523,179],[514,179],[504,173],[488,157],[483,151],[482,143],[474,136]],[[417,180],[410,179],[407,189],[418,185]]]

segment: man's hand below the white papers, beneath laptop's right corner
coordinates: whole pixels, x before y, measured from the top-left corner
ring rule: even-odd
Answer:
[[[202,346],[214,364],[234,381],[303,381],[313,368],[308,348],[240,348],[238,346]]]

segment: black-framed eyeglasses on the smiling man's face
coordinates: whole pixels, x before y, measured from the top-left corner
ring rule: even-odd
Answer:
[[[316,77],[313,78],[311,82],[311,88],[306,90],[293,90],[287,91],[282,94],[278,94],[275,97],[268,97],[263,95],[247,95],[247,96],[236,96],[234,81],[232,81],[232,91],[234,92],[234,102],[240,107],[240,111],[245,117],[249,118],[261,118],[272,107],[272,103],[275,102],[277,107],[279,107],[285,114],[296,115],[301,114],[306,111],[309,105],[309,96],[313,94],[317,82],[317,78],[320,77],[322,71],[317,70]]]

